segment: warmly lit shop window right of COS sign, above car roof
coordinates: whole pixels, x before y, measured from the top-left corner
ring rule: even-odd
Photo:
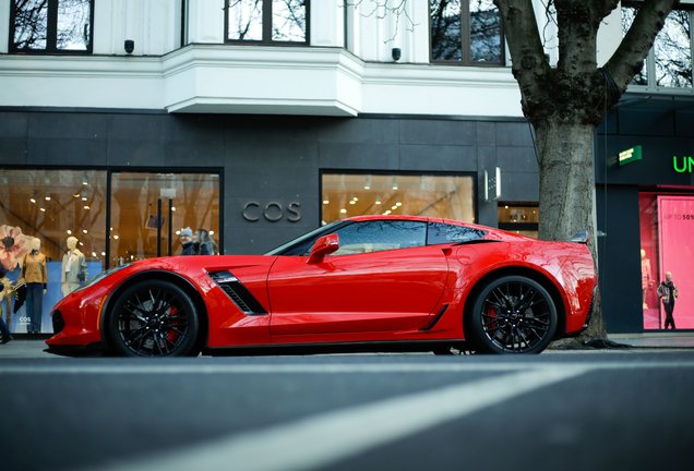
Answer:
[[[323,173],[323,222],[409,215],[475,222],[471,176]]]

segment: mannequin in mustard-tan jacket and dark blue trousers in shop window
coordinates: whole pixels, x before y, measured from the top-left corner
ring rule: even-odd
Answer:
[[[20,278],[26,281],[26,316],[29,319],[27,334],[38,334],[41,330],[44,316],[44,294],[48,285],[48,269],[46,255],[39,252],[41,241],[32,239],[32,252],[24,255]]]

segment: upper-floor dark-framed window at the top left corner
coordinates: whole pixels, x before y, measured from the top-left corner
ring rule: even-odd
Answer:
[[[11,52],[91,53],[94,0],[12,0]]]

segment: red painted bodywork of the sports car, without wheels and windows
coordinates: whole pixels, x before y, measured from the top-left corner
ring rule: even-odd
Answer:
[[[385,219],[361,217],[351,220]],[[69,294],[53,309],[64,328],[50,346],[108,342],[115,295],[133,277],[178,280],[204,303],[206,348],[366,341],[462,340],[468,298],[490,276],[531,273],[551,283],[561,301],[565,331],[584,328],[597,285],[585,244],[542,242],[496,229],[469,244],[446,243],[363,254],[308,256],[187,256],[141,261]],[[248,315],[231,301],[214,273],[232,275],[265,313]],[[557,303],[555,299],[555,303]]]

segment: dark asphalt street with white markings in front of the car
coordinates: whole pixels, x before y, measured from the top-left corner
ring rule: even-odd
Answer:
[[[0,350],[2,470],[692,469],[694,350],[152,361],[26,343]]]

